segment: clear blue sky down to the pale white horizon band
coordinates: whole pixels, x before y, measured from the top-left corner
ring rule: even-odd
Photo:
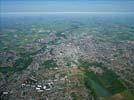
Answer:
[[[134,12],[134,0],[0,0],[0,13]]]

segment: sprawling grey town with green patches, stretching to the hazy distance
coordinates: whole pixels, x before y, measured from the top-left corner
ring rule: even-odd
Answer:
[[[133,100],[134,26],[12,19],[0,28],[1,100]]]

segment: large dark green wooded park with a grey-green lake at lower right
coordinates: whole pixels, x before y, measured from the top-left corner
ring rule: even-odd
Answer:
[[[85,86],[94,97],[110,97],[126,90],[122,82],[118,80],[118,76],[112,70],[108,70],[103,63],[83,61],[81,59],[79,62],[79,67],[85,69]],[[100,67],[104,73],[99,75],[88,71],[87,69],[91,66]]]

